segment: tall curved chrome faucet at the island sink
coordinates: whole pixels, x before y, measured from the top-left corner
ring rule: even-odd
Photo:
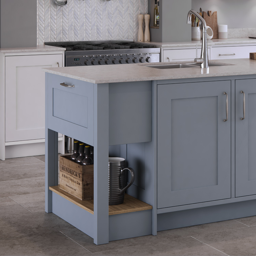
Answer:
[[[207,37],[206,37],[206,22],[204,18],[199,15],[194,10],[190,10],[187,14],[187,24],[191,24],[191,15],[194,14],[202,23],[203,27],[203,40],[202,40],[202,51],[201,57],[195,58],[195,63],[200,63],[201,68],[209,68],[209,60],[208,60],[208,49],[207,49]]]

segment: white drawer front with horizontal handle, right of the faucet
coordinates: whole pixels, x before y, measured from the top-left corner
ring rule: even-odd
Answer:
[[[211,59],[241,59],[249,58],[256,51],[256,46],[224,46],[212,47]]]

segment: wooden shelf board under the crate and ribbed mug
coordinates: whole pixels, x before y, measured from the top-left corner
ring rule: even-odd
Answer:
[[[85,211],[94,214],[93,211],[93,199],[91,200],[79,200],[76,197],[68,194],[67,192],[60,189],[58,186],[49,187],[54,193],[58,194],[61,197],[69,200],[70,202],[76,204],[77,206],[81,207]],[[125,200],[122,204],[118,205],[109,205],[109,215],[120,214],[120,213],[128,213],[128,212],[138,212],[138,211],[145,211],[151,210],[152,205],[144,203],[137,198],[134,198],[128,194],[125,194]]]

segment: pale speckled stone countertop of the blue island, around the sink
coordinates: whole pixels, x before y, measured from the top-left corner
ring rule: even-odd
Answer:
[[[169,63],[191,62],[168,62],[168,64]],[[160,62],[129,65],[44,68],[42,70],[95,84],[256,74],[256,60],[210,60],[209,63],[217,63],[223,66],[210,67],[209,69],[201,69],[200,67],[157,69],[150,67],[153,65],[167,65],[167,62]]]

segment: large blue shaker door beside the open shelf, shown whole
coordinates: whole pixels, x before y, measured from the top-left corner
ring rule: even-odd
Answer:
[[[231,81],[158,85],[157,208],[231,197]]]

